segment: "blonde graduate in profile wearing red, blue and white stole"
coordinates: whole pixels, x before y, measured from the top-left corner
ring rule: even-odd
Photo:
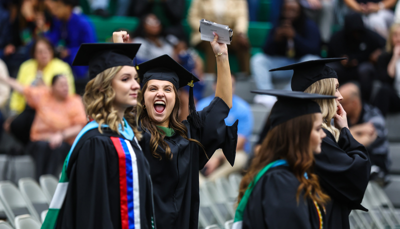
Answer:
[[[151,228],[149,165],[131,113],[140,94],[132,63],[139,45],[79,47],[73,64],[89,65],[83,103],[94,120],[65,159],[41,228]]]

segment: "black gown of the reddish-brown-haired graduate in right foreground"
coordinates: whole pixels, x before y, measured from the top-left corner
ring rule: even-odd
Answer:
[[[296,192],[300,182],[287,166],[270,168],[255,184],[243,212],[243,229],[301,228],[319,229],[320,219],[315,204]],[[319,206],[325,227],[323,208]]]

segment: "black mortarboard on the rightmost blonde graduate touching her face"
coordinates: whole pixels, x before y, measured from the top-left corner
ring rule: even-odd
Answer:
[[[337,78],[336,71],[325,65],[325,63],[343,60],[346,58],[323,58],[289,64],[283,67],[273,68],[269,71],[293,70],[291,77],[291,89],[304,91],[312,83],[323,78]]]

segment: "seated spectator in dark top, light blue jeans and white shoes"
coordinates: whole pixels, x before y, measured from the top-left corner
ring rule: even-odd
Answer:
[[[253,55],[250,59],[252,76],[258,89],[273,89],[272,79],[282,81],[290,87],[292,70],[268,70],[319,58],[320,37],[318,27],[308,19],[302,6],[296,0],[284,0],[279,21],[269,31],[262,53]],[[272,107],[274,96],[254,96],[254,102]]]

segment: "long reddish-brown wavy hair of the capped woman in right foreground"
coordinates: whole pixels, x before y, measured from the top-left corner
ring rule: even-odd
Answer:
[[[251,161],[249,170],[241,179],[238,202],[263,167],[272,161],[283,158],[286,159],[290,171],[300,182],[296,193],[297,202],[302,190],[304,190],[304,199],[309,197],[320,204],[329,200],[329,196],[322,192],[317,176],[312,172],[314,155],[309,147],[309,140],[315,118],[315,114],[301,115],[268,131],[259,152]],[[305,172],[307,172],[308,179],[304,177]]]

